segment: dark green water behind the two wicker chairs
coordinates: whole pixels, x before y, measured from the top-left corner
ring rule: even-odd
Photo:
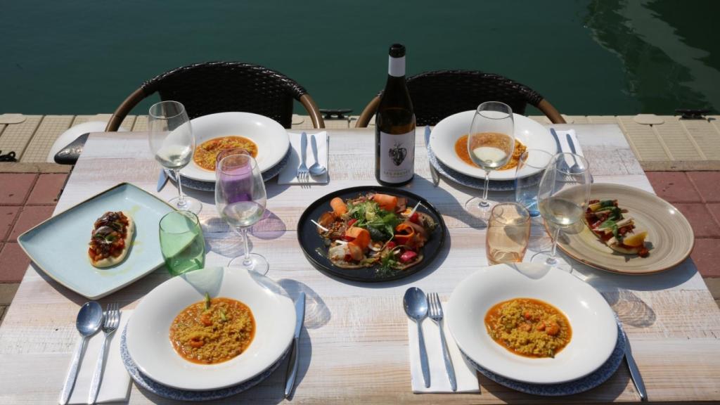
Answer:
[[[225,60],[274,68],[321,108],[359,114],[384,85],[393,42],[408,48],[408,74],[503,74],[565,114],[720,110],[720,41],[711,25],[720,1],[0,4],[0,113],[112,112],[145,79]]]

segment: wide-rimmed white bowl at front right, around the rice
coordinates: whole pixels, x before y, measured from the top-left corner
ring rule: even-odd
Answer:
[[[487,334],[487,311],[513,298],[536,298],[567,316],[572,337],[554,358],[515,355]],[[492,373],[525,383],[566,383],[593,373],[608,360],[618,338],[613,311],[600,293],[540,264],[497,264],[474,272],[452,292],[447,312],[450,332],[465,355]]]

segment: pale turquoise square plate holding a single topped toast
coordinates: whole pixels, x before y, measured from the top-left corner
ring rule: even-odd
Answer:
[[[95,300],[129,285],[164,264],[160,218],[173,208],[130,183],[117,184],[53,216],[19,236],[27,256],[53,280]],[[135,238],[125,260],[99,269],[90,264],[93,224],[107,211],[126,211],[135,221]]]

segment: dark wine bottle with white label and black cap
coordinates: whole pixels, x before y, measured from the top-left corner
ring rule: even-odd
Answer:
[[[415,172],[415,113],[405,84],[405,46],[390,46],[387,83],[375,115],[375,178],[402,186]]]

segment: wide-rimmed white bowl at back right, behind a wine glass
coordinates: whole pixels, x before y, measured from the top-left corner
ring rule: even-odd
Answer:
[[[446,117],[435,125],[430,135],[430,148],[435,156],[451,169],[467,176],[485,179],[485,170],[477,166],[470,166],[455,153],[455,143],[462,135],[467,135],[472,124],[474,111],[463,111]],[[528,149],[541,149],[552,155],[557,153],[557,143],[550,131],[540,123],[523,115],[513,114],[515,122],[515,138],[521,141]],[[539,172],[538,169],[536,172]],[[528,172],[528,176],[536,172]],[[493,170],[490,172],[491,180],[515,179],[515,169]]]

